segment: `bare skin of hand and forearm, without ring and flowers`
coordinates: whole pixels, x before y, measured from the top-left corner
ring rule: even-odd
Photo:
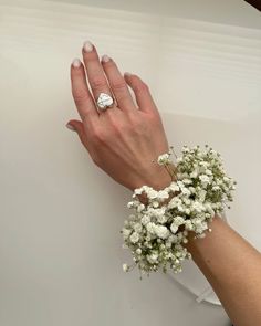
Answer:
[[[82,55],[84,64],[71,65],[72,94],[81,120],[70,120],[67,127],[77,133],[93,162],[119,185],[132,191],[144,185],[156,190],[169,186],[169,172],[152,161],[167,153],[169,145],[148,86],[137,75],[122,75],[112,59],[100,61],[94,45],[91,51],[83,48]],[[100,93],[114,97],[113,108],[96,108]],[[140,196],[140,201],[146,203],[146,198]],[[260,326],[260,252],[219,217],[209,228],[212,232],[203,239],[194,239],[189,232],[185,245],[232,323]]]

